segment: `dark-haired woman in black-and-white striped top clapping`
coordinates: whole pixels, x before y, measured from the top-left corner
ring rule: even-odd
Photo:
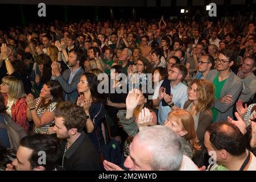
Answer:
[[[47,133],[50,125],[54,123],[56,105],[62,100],[63,89],[57,81],[47,81],[36,101],[32,94],[28,94],[26,97],[27,117],[30,121],[33,120],[35,133]]]

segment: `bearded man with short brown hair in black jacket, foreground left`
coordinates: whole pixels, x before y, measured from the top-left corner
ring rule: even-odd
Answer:
[[[83,131],[86,118],[84,108],[72,102],[62,101],[56,107],[53,130],[62,140],[59,164],[67,171],[100,169],[96,149]]]

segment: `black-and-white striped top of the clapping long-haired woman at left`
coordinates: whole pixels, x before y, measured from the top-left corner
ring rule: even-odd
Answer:
[[[49,111],[51,113],[54,113],[55,109],[56,109],[56,105],[57,105],[57,102],[52,102],[52,104],[50,104],[48,107],[46,108],[42,108],[42,106],[38,106],[40,104],[40,102],[42,102],[42,98],[41,97],[38,97],[36,99],[36,105],[35,107],[37,108],[36,109],[36,113],[38,113],[38,117],[41,118],[43,116],[43,114],[46,112],[46,111]],[[49,128],[49,125],[51,123],[54,123],[54,119],[52,122],[50,122],[49,124],[47,124],[46,126],[43,126],[43,127],[36,127],[34,128],[34,132],[35,133],[46,133],[48,128]]]

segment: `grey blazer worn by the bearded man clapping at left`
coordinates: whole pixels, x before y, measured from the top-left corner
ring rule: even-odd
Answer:
[[[55,80],[60,83],[64,90],[64,99],[67,95],[67,101],[71,101],[76,104],[75,102],[79,96],[79,93],[77,92],[77,84],[79,83],[82,74],[84,74],[84,69],[81,68],[73,77],[71,84],[68,84],[70,74],[70,69],[66,69],[63,74],[56,77]]]

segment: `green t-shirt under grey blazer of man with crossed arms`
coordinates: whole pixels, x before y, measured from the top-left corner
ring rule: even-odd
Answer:
[[[218,74],[217,74],[217,76],[213,80],[213,85],[215,88],[214,96],[217,100],[220,100],[221,90],[222,90],[227,79],[228,78],[226,78],[225,80],[222,80],[222,81],[218,81]],[[218,110],[215,109],[214,107],[212,107],[212,114],[213,114],[213,123],[215,123],[217,115],[218,115]]]

